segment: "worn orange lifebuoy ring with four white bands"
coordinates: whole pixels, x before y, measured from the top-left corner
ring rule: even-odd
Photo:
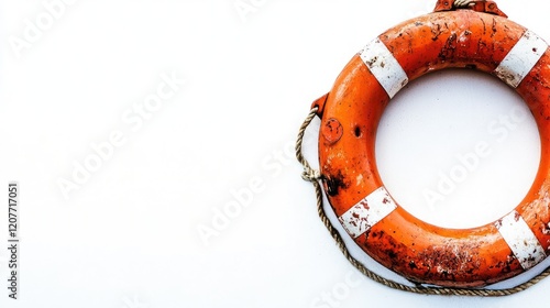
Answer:
[[[376,37],[312,107],[321,118],[323,189],[354,242],[409,280],[479,287],[514,277],[550,253],[550,51],[494,2],[461,2],[471,6],[455,9],[440,0],[433,13]],[[539,170],[525,199],[497,221],[464,230],[436,227],[404,210],[375,163],[376,129],[389,100],[408,81],[449,67],[485,72],[515,88],[541,138]]]

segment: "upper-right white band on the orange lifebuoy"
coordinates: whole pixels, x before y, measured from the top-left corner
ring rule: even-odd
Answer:
[[[547,48],[548,44],[540,36],[527,30],[495,69],[496,76],[517,88]]]

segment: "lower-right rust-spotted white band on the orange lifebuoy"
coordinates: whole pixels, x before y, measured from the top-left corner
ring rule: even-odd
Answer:
[[[539,240],[517,211],[498,220],[495,226],[524,270],[534,267],[547,257]]]

